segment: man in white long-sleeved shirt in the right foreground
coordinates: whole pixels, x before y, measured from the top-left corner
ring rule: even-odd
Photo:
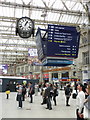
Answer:
[[[77,120],[84,120],[84,118],[83,118],[83,109],[84,109],[85,93],[83,92],[83,85],[81,83],[79,83],[78,86],[77,86],[77,89],[79,90],[77,98],[76,98]]]

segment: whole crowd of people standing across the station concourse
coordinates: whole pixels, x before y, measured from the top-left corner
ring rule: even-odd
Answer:
[[[66,96],[66,106],[70,107],[69,101],[72,94],[76,94],[76,115],[77,120],[85,120],[90,118],[90,84],[81,84],[78,83],[73,87],[76,93],[73,93],[73,89],[71,88],[70,84],[67,84],[64,88],[65,96]],[[54,101],[54,105],[57,105],[57,96],[59,95],[59,88],[57,84],[51,83],[43,83],[43,84],[32,84],[32,82],[28,83],[28,85],[20,85],[17,84],[17,98],[18,107],[23,107],[23,102],[25,101],[26,96],[30,97],[30,103],[33,103],[33,95],[40,95],[42,96],[42,103],[41,105],[46,104],[46,109],[52,110],[52,100]],[[10,91],[8,85],[6,88],[6,95],[7,99],[9,99]]]

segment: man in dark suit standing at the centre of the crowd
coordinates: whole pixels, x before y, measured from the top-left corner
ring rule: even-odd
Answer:
[[[45,94],[44,94],[44,97],[46,97],[46,101],[47,101],[46,109],[52,110],[50,91],[51,91],[51,87],[50,87],[49,83],[46,83],[46,89],[45,89]]]

